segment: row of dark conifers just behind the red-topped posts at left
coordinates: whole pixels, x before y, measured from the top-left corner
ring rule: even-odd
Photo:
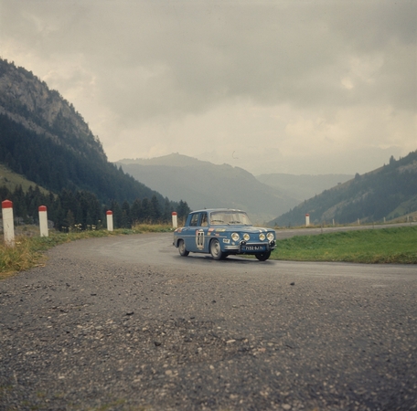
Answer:
[[[179,219],[185,218],[190,212],[187,202],[176,204],[166,198],[161,204],[155,195],[150,199],[136,198],[132,204],[127,200],[122,204],[112,200],[108,205],[102,205],[97,196],[89,191],[64,188],[58,195],[54,195],[42,192],[38,186],[30,186],[26,193],[21,185],[16,186],[14,191],[5,185],[0,186],[0,201],[6,199],[13,202],[17,222],[37,224],[38,207],[46,205],[48,220],[59,231],[66,232],[105,227],[107,210],[112,210],[115,228],[131,228],[141,223],[170,223],[173,211],[176,211]]]

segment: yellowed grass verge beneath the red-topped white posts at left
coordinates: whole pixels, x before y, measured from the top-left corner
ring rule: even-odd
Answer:
[[[15,247],[0,244],[0,279],[5,279],[18,271],[31,269],[45,264],[45,251],[59,244],[69,243],[80,238],[108,237],[123,234],[162,233],[172,231],[171,226],[141,224],[131,229],[120,228],[112,232],[107,230],[77,231],[59,233],[50,231],[49,237],[17,236]]]

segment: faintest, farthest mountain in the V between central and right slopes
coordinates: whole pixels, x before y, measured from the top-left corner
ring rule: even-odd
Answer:
[[[300,203],[323,191],[342,184],[353,178],[348,174],[294,175],[294,174],[261,174],[255,177],[263,184],[278,188],[283,193],[297,199]]]

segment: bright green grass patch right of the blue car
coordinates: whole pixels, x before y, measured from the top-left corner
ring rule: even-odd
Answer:
[[[417,264],[417,227],[297,236],[277,241],[272,259]]]

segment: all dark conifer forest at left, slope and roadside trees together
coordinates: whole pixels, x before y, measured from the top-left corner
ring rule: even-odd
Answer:
[[[0,190],[16,205],[16,216],[37,219],[37,206],[48,206],[48,218],[59,229],[74,225],[100,226],[105,209],[113,211],[115,227],[131,227],[134,222],[165,222],[171,212],[189,212],[186,202],[172,202],[134,180],[102,158],[88,160],[21,124],[0,114],[0,163],[12,171],[58,195],[42,195],[38,188],[23,193],[21,187]],[[132,212],[131,212],[132,208]]]

